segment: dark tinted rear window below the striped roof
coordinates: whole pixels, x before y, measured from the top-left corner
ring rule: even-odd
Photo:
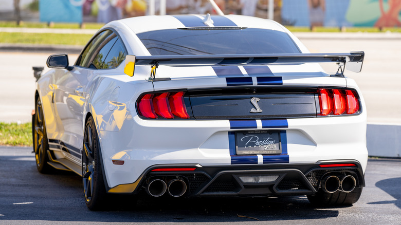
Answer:
[[[152,55],[300,53],[287,33],[266,29],[170,29],[138,37]]]

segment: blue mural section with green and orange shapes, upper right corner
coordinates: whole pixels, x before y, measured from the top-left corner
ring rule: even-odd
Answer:
[[[281,10],[285,25],[401,27],[401,0],[282,0]]]

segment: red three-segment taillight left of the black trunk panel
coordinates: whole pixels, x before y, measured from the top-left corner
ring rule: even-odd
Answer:
[[[184,96],[184,91],[146,94],[137,102],[138,114],[149,119],[189,119]]]

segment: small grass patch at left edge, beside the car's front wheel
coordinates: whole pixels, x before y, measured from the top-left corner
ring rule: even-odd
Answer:
[[[32,146],[31,123],[0,122],[0,145]]]

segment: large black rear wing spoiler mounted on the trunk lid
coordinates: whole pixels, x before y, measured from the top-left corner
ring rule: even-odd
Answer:
[[[134,76],[136,65],[151,65],[149,81],[156,76],[159,65],[244,65],[247,64],[301,64],[301,63],[336,63],[338,70],[335,76],[343,77],[344,68],[360,72],[364,58],[363,51],[350,53],[297,53],[297,54],[239,54],[239,55],[126,55],[124,72]]]

